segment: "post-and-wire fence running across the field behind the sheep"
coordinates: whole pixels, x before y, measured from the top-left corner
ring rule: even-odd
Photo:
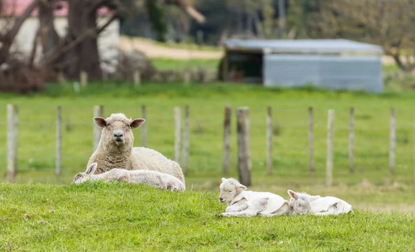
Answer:
[[[203,117],[203,109],[188,109],[187,113],[181,113],[176,117],[173,109],[167,109],[163,111],[165,114],[171,113],[167,119],[157,122],[147,120],[140,133],[138,130],[134,131],[134,146],[154,148],[170,159],[178,159],[182,166],[184,163],[184,171],[190,176],[228,174],[229,167],[231,173],[237,171],[232,167],[241,165],[238,158],[241,146],[237,144],[239,126],[233,111],[229,122],[229,147],[226,150],[225,118],[215,117],[212,120]],[[177,107],[176,111],[179,110],[181,108]],[[55,168],[55,174],[59,176],[66,170],[75,173],[84,169],[99,141],[96,130],[100,128],[95,127],[92,119],[89,119],[89,122],[73,121],[66,117],[65,108],[62,108],[62,115],[55,117],[55,122],[50,120],[53,119],[51,115],[48,115],[48,121],[25,122],[24,118],[19,118],[18,111],[17,106],[9,105],[8,121],[0,122],[0,125],[7,126],[8,131],[5,139],[0,138],[0,143],[3,142],[7,146],[6,166],[10,182],[15,180],[19,170],[49,171],[50,168]],[[340,119],[334,118],[333,139],[330,140],[327,138],[327,122],[323,122],[328,118],[319,115],[316,120],[317,116],[310,117],[306,111],[307,108],[302,111],[304,119],[301,122],[295,120],[297,122],[290,123],[278,117],[282,113],[290,113],[289,111],[273,110],[271,115],[274,117],[268,118],[268,127],[266,109],[261,115],[257,110],[251,111],[246,132],[250,139],[249,152],[244,155],[249,156],[246,162],[251,164],[254,175],[268,173],[277,176],[288,173],[303,177],[326,177],[329,181],[332,180],[332,176],[335,180],[336,177],[340,180],[342,176],[356,179],[368,176],[374,180],[393,177],[406,182],[414,181],[412,177],[415,177],[415,128],[414,123],[407,118],[396,119],[396,124],[392,122],[394,117],[391,117],[389,122],[382,119],[366,123],[368,115],[365,115],[365,118],[362,118],[362,115],[341,115]],[[159,112],[160,110],[146,111],[145,107],[142,109],[146,117],[154,117]],[[319,112],[321,114],[321,110]],[[344,114],[344,111],[342,112]],[[293,110],[293,113],[299,111]],[[221,113],[218,112],[217,115]],[[263,119],[259,120],[260,117]],[[183,122],[178,123],[178,120]],[[184,129],[186,120],[188,126]],[[353,127],[350,126],[351,120],[356,120]],[[313,137],[310,137],[310,134],[313,134]],[[183,135],[187,135],[187,139],[184,140]],[[267,146],[267,142],[271,145]],[[185,144],[187,146],[183,147]],[[330,144],[333,151],[327,151]],[[224,153],[225,151],[228,153]],[[223,160],[225,157],[228,158],[227,162]],[[333,158],[333,164],[329,164],[331,168],[327,166],[327,157]],[[333,171],[330,173],[328,169]],[[413,172],[410,172],[412,170]],[[50,175],[53,173],[50,172]],[[328,185],[331,184],[332,182],[328,182]]]

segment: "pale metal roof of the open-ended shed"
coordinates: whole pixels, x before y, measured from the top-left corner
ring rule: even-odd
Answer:
[[[383,53],[381,46],[347,39],[229,39],[225,42],[225,48],[229,50],[261,50],[270,53]]]

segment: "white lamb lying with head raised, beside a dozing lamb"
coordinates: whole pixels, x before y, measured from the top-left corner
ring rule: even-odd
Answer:
[[[272,217],[289,213],[288,201],[273,193],[246,191],[246,186],[233,178],[222,178],[219,202],[228,204],[223,217]]]

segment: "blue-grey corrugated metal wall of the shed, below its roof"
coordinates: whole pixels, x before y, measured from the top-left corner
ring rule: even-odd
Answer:
[[[382,64],[378,56],[264,55],[264,86],[313,84],[332,90],[382,93]]]

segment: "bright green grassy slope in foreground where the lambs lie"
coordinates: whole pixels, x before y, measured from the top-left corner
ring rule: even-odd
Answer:
[[[223,219],[215,193],[126,184],[0,184],[4,251],[410,251],[396,214]]]

